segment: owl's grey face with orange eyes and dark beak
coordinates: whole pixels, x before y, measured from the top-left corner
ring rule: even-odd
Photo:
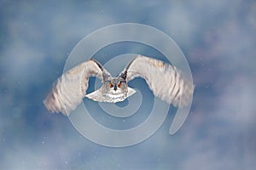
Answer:
[[[126,95],[128,92],[127,83],[120,77],[109,77],[107,81],[103,83],[103,95]]]

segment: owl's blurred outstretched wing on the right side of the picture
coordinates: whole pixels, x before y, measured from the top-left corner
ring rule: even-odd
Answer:
[[[176,107],[188,105],[194,92],[193,83],[186,80],[176,67],[141,55],[132,59],[119,77],[127,82],[143,77],[155,96]]]

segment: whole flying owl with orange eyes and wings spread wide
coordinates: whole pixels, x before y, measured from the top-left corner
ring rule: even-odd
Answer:
[[[102,87],[86,94],[89,77],[102,79]],[[98,102],[120,102],[136,93],[128,87],[128,82],[135,77],[145,79],[155,96],[175,107],[188,105],[194,92],[194,84],[183,77],[181,71],[159,59],[137,55],[117,77],[112,77],[101,63],[90,59],[61,75],[44,99],[44,105],[52,113],[68,116],[84,97]]]

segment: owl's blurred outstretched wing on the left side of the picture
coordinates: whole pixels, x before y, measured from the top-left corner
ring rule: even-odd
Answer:
[[[67,116],[82,102],[89,77],[104,79],[108,76],[108,71],[96,60],[84,61],[57,79],[44,99],[44,105],[52,113],[62,112]]]

